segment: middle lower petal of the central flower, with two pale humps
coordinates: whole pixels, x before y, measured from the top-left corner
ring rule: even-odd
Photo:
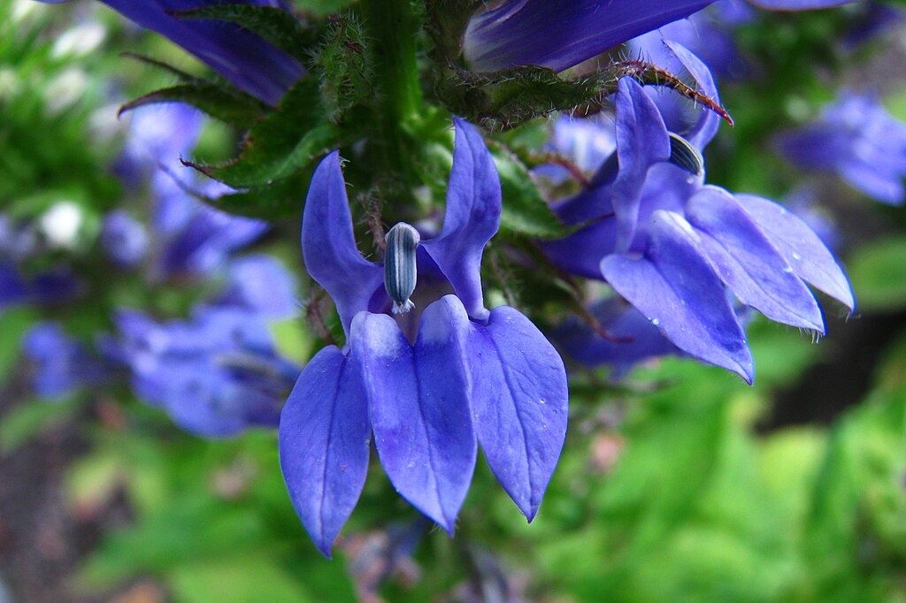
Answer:
[[[477,455],[463,353],[469,328],[462,304],[448,295],[425,309],[414,346],[386,314],[357,315],[350,338],[390,482],[450,534]]]

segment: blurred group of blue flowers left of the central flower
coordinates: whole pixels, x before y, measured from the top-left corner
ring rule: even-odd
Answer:
[[[150,228],[117,209],[106,215],[98,241],[121,271],[142,282],[217,282],[217,292],[194,304],[187,321],[157,321],[144,311],[120,310],[115,332],[87,345],[61,323],[40,322],[26,335],[34,392],[67,397],[84,388],[110,385],[123,373],[137,397],[160,407],[174,422],[200,436],[234,436],[249,426],[275,427],[287,392],[301,370],[275,350],[271,321],[298,312],[296,281],[265,254],[235,256],[268,229],[265,222],[227,215],[197,196],[230,192],[217,182],[174,175],[181,156],[194,147],[201,114],[185,105],[134,113],[116,170],[131,190],[149,188]],[[65,274],[26,279],[30,257],[78,228],[59,216],[35,224],[4,219],[5,303],[74,301],[76,282]],[[65,217],[65,216],[64,216]],[[58,224],[59,223],[59,224]],[[48,229],[52,229],[48,231]],[[91,293],[92,283],[79,285]]]

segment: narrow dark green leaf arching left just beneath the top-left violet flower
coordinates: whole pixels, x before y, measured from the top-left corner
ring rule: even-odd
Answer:
[[[207,115],[239,129],[249,129],[267,106],[243,91],[214,81],[193,78],[175,86],[149,92],[120,107],[120,115],[144,105],[160,102],[187,102]]]

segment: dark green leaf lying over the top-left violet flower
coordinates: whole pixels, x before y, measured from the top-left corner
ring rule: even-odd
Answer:
[[[299,62],[310,57],[317,40],[314,30],[306,29],[292,13],[275,6],[210,5],[174,14],[182,19],[217,19],[242,25]]]

